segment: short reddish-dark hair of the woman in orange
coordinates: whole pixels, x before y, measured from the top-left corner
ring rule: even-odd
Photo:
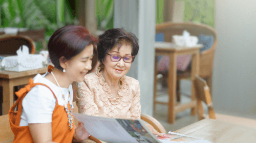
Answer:
[[[70,60],[79,54],[86,46],[96,45],[97,38],[90,35],[86,27],[78,25],[68,25],[59,28],[53,33],[48,43],[48,51],[51,62],[59,70],[63,68],[59,64],[59,59],[64,56]]]

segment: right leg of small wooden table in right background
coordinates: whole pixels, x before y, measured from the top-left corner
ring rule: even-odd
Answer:
[[[191,65],[191,101],[196,100],[196,91],[195,91],[195,75],[199,74],[199,51],[193,54],[192,56],[192,65]],[[196,115],[196,107],[191,108],[191,115]]]

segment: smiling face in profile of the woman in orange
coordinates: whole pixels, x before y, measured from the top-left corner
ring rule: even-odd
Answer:
[[[65,62],[69,79],[77,82],[84,80],[86,73],[92,69],[93,45],[90,44],[78,55]]]

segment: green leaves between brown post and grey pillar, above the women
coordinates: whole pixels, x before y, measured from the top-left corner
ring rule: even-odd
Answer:
[[[114,28],[114,1],[95,0],[96,17],[99,30],[109,30]]]

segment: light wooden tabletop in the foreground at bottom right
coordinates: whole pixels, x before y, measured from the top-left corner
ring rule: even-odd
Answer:
[[[174,132],[216,143],[256,142],[256,129],[212,119],[201,120]]]

